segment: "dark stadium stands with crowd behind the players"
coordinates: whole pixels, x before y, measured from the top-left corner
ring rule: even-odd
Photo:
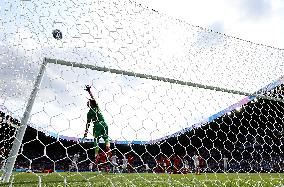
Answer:
[[[111,144],[110,152],[100,150],[96,158],[91,143],[60,140],[28,127],[15,169],[17,171],[97,171],[114,173],[191,173],[200,156],[201,172],[283,172],[282,121],[279,110],[269,111],[254,103],[246,112],[225,116],[177,137],[147,145]],[[282,106],[281,106],[282,107]],[[257,108],[258,110],[253,110]],[[251,112],[252,111],[252,112]],[[261,115],[273,118],[273,124]],[[281,112],[281,111],[280,111]],[[249,122],[246,119],[253,119]],[[268,118],[267,118],[268,119]],[[0,111],[0,163],[3,168],[19,120]],[[256,132],[257,131],[257,132]],[[55,151],[56,150],[56,151]]]

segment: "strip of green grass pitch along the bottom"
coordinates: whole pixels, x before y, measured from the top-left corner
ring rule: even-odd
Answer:
[[[119,173],[99,174],[94,172],[60,172],[60,173],[13,173],[12,186],[99,186],[99,187],[169,187],[169,186],[259,186],[284,187],[283,173],[203,173],[195,174],[154,174],[154,173]],[[66,182],[64,182],[64,180]],[[0,183],[0,186],[10,186]]]

